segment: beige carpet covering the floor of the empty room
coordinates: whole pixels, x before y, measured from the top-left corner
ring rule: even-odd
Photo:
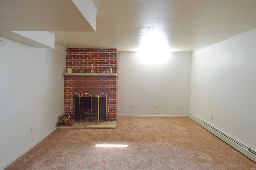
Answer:
[[[256,163],[189,118],[119,117],[116,129],[57,129],[6,168],[30,169],[254,170]]]

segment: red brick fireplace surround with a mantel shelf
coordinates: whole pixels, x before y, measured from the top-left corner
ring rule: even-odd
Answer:
[[[93,75],[80,73],[91,73]],[[113,67],[113,74],[102,74]],[[72,73],[64,74],[64,105],[65,114],[74,112],[74,93],[105,93],[107,95],[107,107],[112,121],[118,118],[118,51],[117,49],[82,49],[67,48],[66,72],[71,68]]]

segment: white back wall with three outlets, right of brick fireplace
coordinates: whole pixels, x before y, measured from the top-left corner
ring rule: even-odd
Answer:
[[[188,116],[190,78],[190,52],[169,53],[162,65],[142,65],[140,53],[119,52],[119,115]]]

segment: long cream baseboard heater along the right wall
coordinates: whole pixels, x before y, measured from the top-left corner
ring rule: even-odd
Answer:
[[[209,132],[211,132],[212,134],[214,134],[215,136],[217,136],[218,138],[220,138],[221,140],[223,140],[224,142],[226,142],[227,144],[229,144],[230,146],[244,154],[246,157],[256,162],[256,152],[252,150],[250,147],[245,146],[244,144],[238,142],[237,140],[231,138],[230,136],[222,133],[220,130],[212,127],[208,123],[205,123],[193,114],[190,114],[189,117],[198,125],[202,126],[206,130],[208,130]]]

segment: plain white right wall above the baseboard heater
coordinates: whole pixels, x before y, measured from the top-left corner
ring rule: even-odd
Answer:
[[[191,113],[253,150],[256,150],[255,40],[256,29],[194,51],[191,76]]]

